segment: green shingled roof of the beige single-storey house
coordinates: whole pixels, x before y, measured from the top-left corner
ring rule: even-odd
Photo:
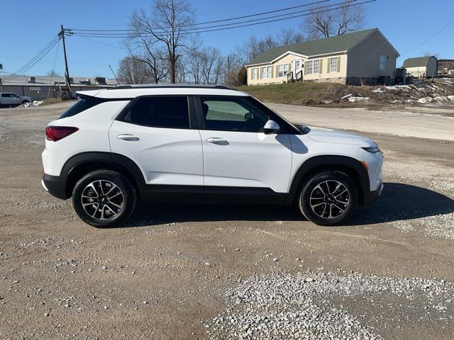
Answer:
[[[272,60],[284,55],[286,52],[294,52],[300,55],[311,56],[348,51],[350,48],[357,45],[361,40],[375,31],[380,33],[380,30],[377,28],[372,28],[369,30],[358,30],[358,32],[336,35],[335,37],[330,38],[310,40],[306,42],[298,42],[292,45],[275,47],[261,53],[251,60],[248,65],[272,62]]]

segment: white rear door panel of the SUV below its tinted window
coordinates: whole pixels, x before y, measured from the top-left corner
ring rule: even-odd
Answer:
[[[138,164],[147,184],[204,184],[198,130],[152,128],[115,120],[109,139],[111,151]]]

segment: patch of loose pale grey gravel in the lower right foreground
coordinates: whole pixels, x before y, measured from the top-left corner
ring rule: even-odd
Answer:
[[[373,309],[396,315],[387,320],[395,324],[402,319],[448,324],[453,319],[453,293],[453,285],[444,280],[310,271],[253,276],[228,290],[227,309],[205,327],[210,339],[383,339],[380,327],[365,326],[371,317],[375,320],[370,324],[377,324],[377,314],[357,317],[339,300],[359,297]],[[406,304],[382,305],[375,301],[377,295],[397,295]]]

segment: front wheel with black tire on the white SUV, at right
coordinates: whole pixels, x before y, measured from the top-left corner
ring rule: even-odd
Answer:
[[[342,186],[338,187],[338,183]],[[334,191],[336,188],[338,191]],[[343,188],[347,189],[347,192],[335,197]],[[328,194],[325,195],[325,192]],[[358,187],[350,176],[341,171],[321,171],[304,183],[297,203],[304,217],[316,225],[336,225],[355,212],[358,205]]]

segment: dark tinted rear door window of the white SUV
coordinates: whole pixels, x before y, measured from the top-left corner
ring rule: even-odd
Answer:
[[[189,129],[187,97],[140,98],[126,116],[126,121],[155,128]]]

